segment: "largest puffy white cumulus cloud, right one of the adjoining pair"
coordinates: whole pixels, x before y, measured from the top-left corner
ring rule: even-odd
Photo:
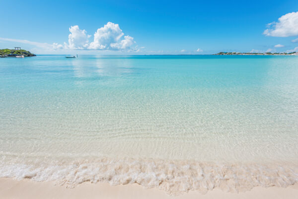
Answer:
[[[94,40],[90,43],[88,49],[93,50],[127,50],[136,42],[131,36],[124,36],[118,24],[108,22],[94,33]]]

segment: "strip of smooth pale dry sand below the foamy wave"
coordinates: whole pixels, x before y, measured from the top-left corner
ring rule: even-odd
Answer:
[[[51,182],[0,178],[0,199],[298,199],[298,189],[256,187],[245,193],[213,190],[206,195],[191,191],[174,197],[157,189],[144,189],[137,184],[112,187],[105,183],[83,183],[70,189],[55,186]]]

